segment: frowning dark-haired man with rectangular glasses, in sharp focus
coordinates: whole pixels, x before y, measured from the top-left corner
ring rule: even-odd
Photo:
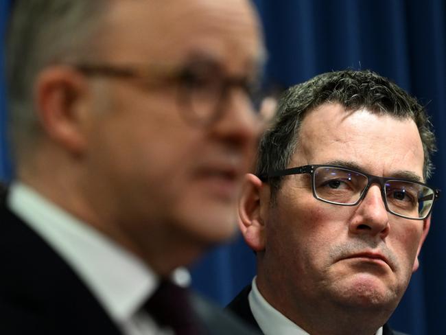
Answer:
[[[430,227],[424,108],[371,71],[290,88],[246,176],[257,277],[228,306],[264,334],[388,335]]]

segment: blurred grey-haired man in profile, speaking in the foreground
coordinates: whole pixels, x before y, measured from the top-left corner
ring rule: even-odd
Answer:
[[[246,0],[14,1],[1,334],[248,334],[172,272],[236,231],[263,58]]]

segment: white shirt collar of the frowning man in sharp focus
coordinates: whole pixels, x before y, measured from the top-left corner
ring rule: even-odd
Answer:
[[[265,335],[309,335],[305,330],[296,325],[290,319],[278,310],[262,297],[256,284],[256,277],[253,279],[253,285],[251,292],[248,294],[249,306],[253,316],[263,334]],[[375,335],[382,335],[382,327],[376,332]]]

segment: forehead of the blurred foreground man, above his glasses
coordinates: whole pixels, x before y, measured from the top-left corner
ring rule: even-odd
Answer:
[[[116,1],[106,18],[104,40],[113,51],[108,56],[180,62],[201,53],[222,65],[238,57],[237,68],[253,64],[254,71],[265,54],[252,11],[247,2],[231,6],[225,1]]]

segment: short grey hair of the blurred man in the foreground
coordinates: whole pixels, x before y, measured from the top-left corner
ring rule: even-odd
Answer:
[[[97,51],[97,32],[110,0],[16,0],[6,36],[9,127],[19,163],[41,134],[34,82],[45,67]]]

